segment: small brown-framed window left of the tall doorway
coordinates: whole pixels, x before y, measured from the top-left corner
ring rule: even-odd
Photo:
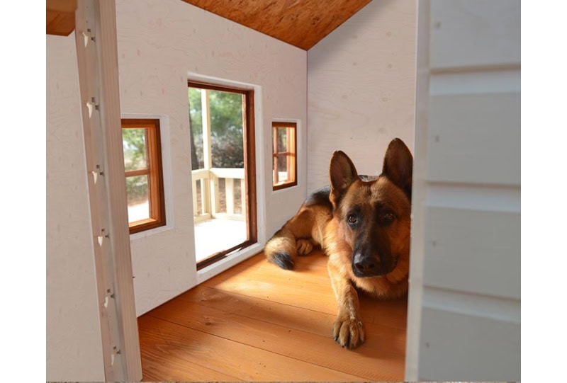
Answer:
[[[122,119],[130,234],[165,225],[159,120]]]

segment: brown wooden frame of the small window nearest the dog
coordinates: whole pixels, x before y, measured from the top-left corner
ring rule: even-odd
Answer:
[[[278,152],[278,129],[285,127],[287,131],[287,151]],[[290,130],[293,130],[293,135],[290,135]],[[272,190],[281,190],[291,188],[297,185],[297,122],[271,122],[271,135],[272,135]],[[287,158],[288,178],[291,181],[286,183],[278,183],[278,164],[277,161],[280,157]]]

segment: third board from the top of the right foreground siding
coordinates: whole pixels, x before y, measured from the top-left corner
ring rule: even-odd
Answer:
[[[426,285],[520,299],[520,214],[429,207]]]

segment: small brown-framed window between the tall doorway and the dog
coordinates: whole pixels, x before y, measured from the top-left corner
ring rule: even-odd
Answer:
[[[274,190],[297,185],[296,122],[272,122]]]

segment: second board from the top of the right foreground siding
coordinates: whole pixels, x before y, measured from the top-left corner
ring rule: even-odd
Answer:
[[[520,93],[430,98],[430,181],[520,185]]]

